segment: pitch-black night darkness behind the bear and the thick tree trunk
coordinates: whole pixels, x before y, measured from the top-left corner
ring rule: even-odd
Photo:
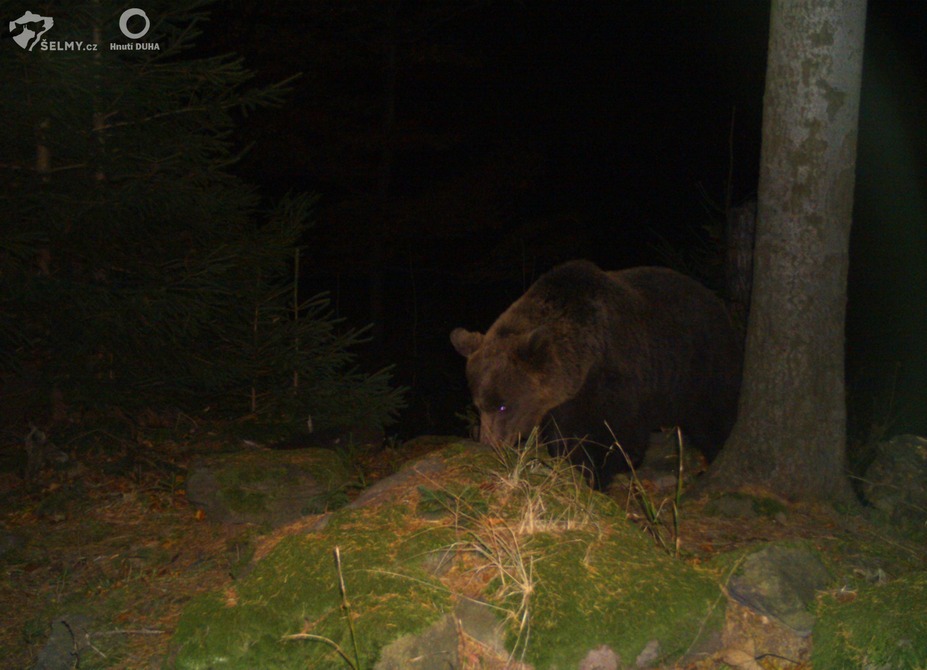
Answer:
[[[243,119],[236,169],[268,200],[320,194],[305,288],[330,291],[349,323],[377,321],[362,355],[410,387],[407,437],[463,430],[449,331],[486,328],[554,264],[674,264],[716,281],[707,230],[756,194],[768,23],[768,2],[745,0],[240,0],[203,45],[241,54],[261,84],[302,73],[285,107]],[[927,433],[925,38],[927,5],[870,0],[847,324],[856,439],[883,424]]]

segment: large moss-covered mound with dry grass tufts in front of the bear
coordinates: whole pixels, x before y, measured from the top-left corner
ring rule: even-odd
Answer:
[[[458,443],[394,477],[368,506],[286,537],[233,588],[196,599],[168,667],[374,668],[403,636],[433,648],[442,621],[477,637],[455,614],[472,600],[497,613],[510,658],[538,669],[605,648],[653,667],[720,629],[714,576],[661,552],[572,470]],[[454,656],[440,667],[458,667]]]

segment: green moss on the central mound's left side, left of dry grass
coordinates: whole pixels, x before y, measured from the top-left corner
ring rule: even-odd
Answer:
[[[446,590],[422,563],[450,536],[441,528],[400,536],[409,516],[403,507],[335,514],[323,534],[284,538],[238,585],[234,604],[212,594],[187,607],[174,636],[172,667],[343,668],[330,645],[284,637],[319,635],[353,658],[348,614],[360,666],[371,667],[384,645],[427,628],[449,609]],[[349,612],[342,608],[336,545]]]

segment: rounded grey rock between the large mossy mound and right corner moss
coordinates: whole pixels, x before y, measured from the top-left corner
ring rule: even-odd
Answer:
[[[728,593],[745,607],[773,617],[805,637],[814,627],[808,610],[832,577],[810,549],[770,545],[747,557],[728,583]]]

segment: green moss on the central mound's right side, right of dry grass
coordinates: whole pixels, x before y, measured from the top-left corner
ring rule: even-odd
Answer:
[[[662,658],[675,659],[723,622],[715,581],[655,552],[634,528],[539,534],[526,554],[536,557],[536,586],[525,656],[538,668],[577,667],[602,644],[633,660],[651,640]],[[516,650],[518,638],[513,627]]]

